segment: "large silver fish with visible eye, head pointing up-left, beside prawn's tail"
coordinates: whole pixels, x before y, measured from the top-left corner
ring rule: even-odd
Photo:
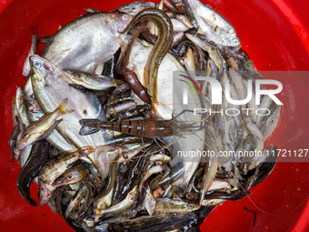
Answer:
[[[85,117],[105,119],[105,113],[98,98],[90,92],[80,91],[68,86],[62,79],[62,70],[44,58],[33,55],[30,57],[34,75],[32,85],[35,99],[44,112],[53,111],[58,104],[68,98],[67,107],[74,109],[69,117],[64,118],[64,123],[57,127],[57,131],[68,138],[76,147],[102,146],[111,138],[107,133],[96,133],[90,136],[79,136],[79,120]],[[35,67],[37,66],[37,67]],[[93,158],[93,156],[89,156]],[[105,158],[107,160],[107,157]],[[89,160],[88,160],[89,162]],[[108,170],[108,164],[106,164]]]

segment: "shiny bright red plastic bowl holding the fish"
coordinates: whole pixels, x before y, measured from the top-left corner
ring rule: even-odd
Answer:
[[[11,101],[16,86],[24,86],[22,66],[31,45],[31,25],[38,35],[53,35],[83,8],[113,10],[129,1],[87,0],[2,0],[0,1],[0,87],[3,110],[0,144],[0,181],[10,163],[7,144],[13,127]],[[204,1],[205,2],[205,1]],[[224,15],[236,29],[244,50],[258,70],[309,70],[309,2],[292,0],[209,0],[206,2]],[[42,51],[40,45],[39,51]],[[282,115],[278,127],[267,140],[285,149],[309,148],[309,78],[283,77]],[[31,207],[15,186],[20,166],[13,167],[0,185],[0,231],[71,231],[49,207]],[[252,189],[250,199],[226,202],[216,207],[201,227],[202,231],[309,231],[309,166],[306,163],[277,163],[273,173]],[[31,187],[32,196],[37,186]],[[35,197],[34,197],[35,198]],[[244,210],[244,207],[256,212]]]

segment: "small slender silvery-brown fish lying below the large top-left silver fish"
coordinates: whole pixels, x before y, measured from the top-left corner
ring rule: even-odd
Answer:
[[[63,72],[75,85],[83,86],[87,89],[105,90],[109,87],[117,87],[123,82],[122,80],[111,79],[108,76],[95,76],[73,69],[64,69]]]

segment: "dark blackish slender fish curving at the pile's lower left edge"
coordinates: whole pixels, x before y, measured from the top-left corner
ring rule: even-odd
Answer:
[[[19,193],[31,205],[36,207],[36,202],[30,197],[29,187],[35,175],[44,165],[49,156],[49,143],[45,140],[38,141],[32,146],[31,153],[17,178],[17,188]]]

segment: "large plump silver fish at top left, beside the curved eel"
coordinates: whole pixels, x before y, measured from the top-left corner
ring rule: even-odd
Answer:
[[[124,40],[130,15],[94,13],[76,18],[63,26],[45,45],[42,56],[55,66],[95,73],[97,66],[110,60]]]

